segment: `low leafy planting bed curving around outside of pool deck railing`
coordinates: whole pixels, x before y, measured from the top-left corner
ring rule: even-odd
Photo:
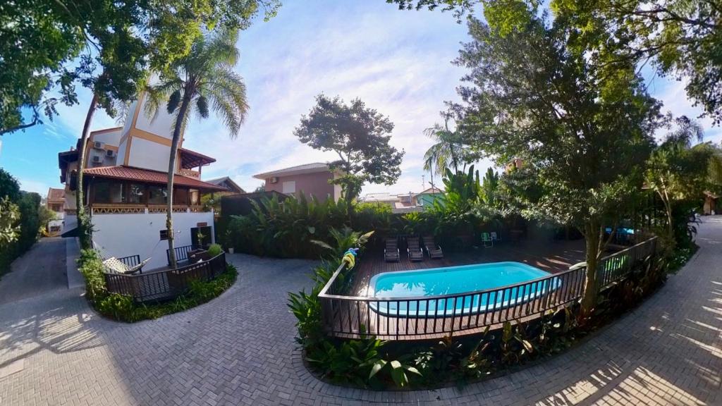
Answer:
[[[318,293],[339,266],[326,261],[314,272],[309,293],[290,293],[288,306],[297,318],[297,342],[311,370],[335,384],[372,389],[433,388],[464,384],[560,353],[590,332],[629,311],[666,280],[669,260],[649,258],[635,264],[627,280],[602,291],[590,316],[578,306],[558,308],[521,324],[474,336],[449,337],[432,344],[384,342],[375,337],[337,340],[326,337]],[[350,278],[346,270],[342,278]]]

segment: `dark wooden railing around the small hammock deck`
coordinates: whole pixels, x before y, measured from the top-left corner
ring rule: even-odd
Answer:
[[[165,301],[188,291],[191,281],[215,279],[226,269],[225,253],[177,269],[165,269],[134,275],[105,275],[110,293],[131,296],[136,302]]]

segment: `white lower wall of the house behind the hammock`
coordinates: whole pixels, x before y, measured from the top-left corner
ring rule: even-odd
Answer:
[[[198,223],[213,227],[213,213],[173,214],[176,247],[191,245],[191,228]],[[160,230],[165,230],[165,213],[92,215],[92,224],[93,242],[100,246],[104,256],[139,255],[141,261],[150,256],[144,271],[168,264],[165,256],[168,241],[160,240]]]

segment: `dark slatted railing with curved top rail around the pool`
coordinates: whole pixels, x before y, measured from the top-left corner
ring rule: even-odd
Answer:
[[[654,253],[656,238],[601,259],[599,284],[606,287],[629,275],[632,265]],[[383,340],[424,340],[464,332],[482,332],[505,321],[532,319],[578,301],[584,290],[586,265],[529,282],[450,295],[383,298],[344,295],[340,266],[323,287],[321,319],[326,334]],[[350,271],[350,272],[353,272]]]

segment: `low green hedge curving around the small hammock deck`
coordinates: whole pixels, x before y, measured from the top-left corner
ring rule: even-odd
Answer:
[[[135,303],[132,298],[117,293],[108,293],[103,277],[103,262],[97,251],[82,250],[78,259],[78,269],[85,278],[85,294],[95,310],[109,319],[132,323],[147,319],[157,319],[166,314],[185,311],[217,298],[230,288],[238,277],[238,271],[232,264],[226,265],[216,279],[193,281],[188,292],[173,301],[157,304]]]

